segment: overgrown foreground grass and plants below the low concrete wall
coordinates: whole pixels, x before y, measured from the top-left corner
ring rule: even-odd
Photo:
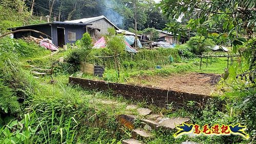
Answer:
[[[1,141],[15,140],[17,143],[120,143],[123,138],[130,136],[130,131],[119,127],[115,120],[117,114],[126,113],[126,101],[122,98],[113,98],[111,93],[97,93],[84,91],[77,87],[67,86],[69,75],[64,71],[57,71],[53,76],[54,85],[49,84],[50,77],[35,79],[30,74],[30,68],[23,67],[26,60],[34,60],[33,64],[47,66],[58,56],[69,52],[60,52],[50,59],[41,59],[48,55],[49,51],[34,44],[24,43],[23,40],[2,39],[1,45]],[[17,43],[17,44],[16,44]],[[23,46],[23,47],[22,47]],[[36,52],[33,52],[36,51]],[[71,51],[71,50],[70,50]],[[32,53],[30,53],[32,52]],[[28,54],[30,53],[30,54]],[[42,63],[42,62],[47,63]],[[64,64],[63,64],[64,65]],[[61,66],[61,65],[59,65]],[[57,68],[59,68],[59,66]],[[223,82],[224,83],[224,82]],[[233,85],[239,88],[239,84]],[[213,99],[206,107],[196,108],[195,102],[189,101],[186,106],[174,110],[169,104],[167,109],[159,109],[149,106],[147,103],[139,103],[140,106],[150,107],[156,113],[162,113],[169,117],[189,116],[193,124],[201,126],[205,124],[236,124],[247,125],[248,133],[254,133],[253,89],[241,92],[226,92],[223,99]],[[248,95],[246,99],[246,95]],[[230,98],[233,96],[233,98]],[[92,104],[94,99],[115,99],[122,105]],[[18,100],[17,100],[18,99]],[[244,100],[244,101],[243,101]],[[9,106],[4,107],[4,106]],[[5,112],[6,111],[6,112]],[[24,115],[25,114],[25,115]],[[14,119],[13,119],[14,118]],[[239,136],[224,137],[188,137],[174,139],[173,133],[153,131],[155,139],[145,140],[145,143],[180,143],[185,140],[204,143],[247,141]],[[24,136],[25,135],[25,136]]]

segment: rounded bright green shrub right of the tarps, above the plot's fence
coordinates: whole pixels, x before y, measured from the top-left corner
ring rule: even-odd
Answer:
[[[191,37],[186,44],[191,49],[191,52],[195,55],[202,55],[215,45],[212,39],[198,35]]]

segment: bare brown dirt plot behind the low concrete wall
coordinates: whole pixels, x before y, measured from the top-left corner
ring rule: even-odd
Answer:
[[[173,74],[162,76],[139,76],[133,77],[134,85],[169,89],[179,92],[210,95],[215,84],[220,80],[220,75],[205,73]]]

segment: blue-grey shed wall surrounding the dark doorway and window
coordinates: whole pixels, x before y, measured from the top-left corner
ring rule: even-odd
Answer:
[[[52,43],[58,46],[57,28],[65,29],[65,45],[73,44],[76,40],[81,39],[83,34],[86,33],[86,26],[79,25],[52,25]],[[68,32],[76,33],[76,40],[68,40]]]

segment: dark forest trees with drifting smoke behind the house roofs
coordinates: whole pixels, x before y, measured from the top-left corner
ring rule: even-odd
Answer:
[[[26,0],[34,15],[49,15],[58,21],[105,15],[122,29],[134,28],[135,7],[137,29],[163,29],[166,16],[153,0]]]

